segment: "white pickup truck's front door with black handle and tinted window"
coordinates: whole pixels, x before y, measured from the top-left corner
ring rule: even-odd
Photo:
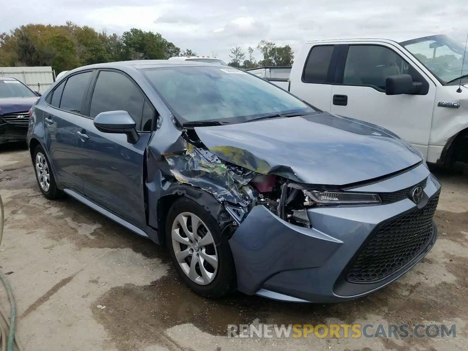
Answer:
[[[427,156],[436,85],[398,46],[388,43],[339,45],[331,89],[331,112],[378,124],[408,140]],[[390,75],[410,74],[417,95],[386,95]]]

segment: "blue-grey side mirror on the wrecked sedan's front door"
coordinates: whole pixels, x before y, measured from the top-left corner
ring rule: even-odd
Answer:
[[[100,132],[126,134],[127,141],[131,144],[135,144],[139,139],[135,129],[137,124],[127,111],[101,112],[95,117],[94,125]]]

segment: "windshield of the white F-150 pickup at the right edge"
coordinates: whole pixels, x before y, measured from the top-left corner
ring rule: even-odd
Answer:
[[[423,37],[400,43],[444,83],[461,76],[465,48],[446,35]],[[465,71],[467,62],[463,73]],[[454,82],[453,84],[456,84]]]

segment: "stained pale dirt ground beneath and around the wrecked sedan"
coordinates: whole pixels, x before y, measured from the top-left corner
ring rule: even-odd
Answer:
[[[33,351],[468,350],[468,177],[437,174],[439,240],[399,281],[339,304],[291,304],[188,291],[164,248],[72,198],[40,193],[28,151],[0,151],[2,272],[18,305],[17,335]],[[9,302],[0,291],[2,306]],[[97,306],[105,306],[101,309]],[[234,339],[227,324],[445,323],[456,337]]]

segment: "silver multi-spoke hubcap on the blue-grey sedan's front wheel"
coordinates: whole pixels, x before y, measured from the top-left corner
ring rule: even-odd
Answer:
[[[218,271],[218,252],[205,223],[193,213],[180,213],[171,237],[177,262],[187,277],[199,285],[210,284]]]

